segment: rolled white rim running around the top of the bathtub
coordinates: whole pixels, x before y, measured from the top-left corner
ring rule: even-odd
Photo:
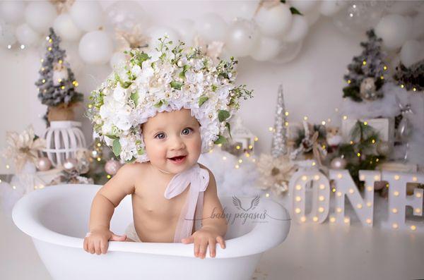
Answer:
[[[78,191],[75,190],[76,188],[98,189],[100,187],[101,185],[61,184],[48,186],[41,190],[35,190],[31,193],[28,193],[27,195],[24,195],[20,198],[20,200],[18,200],[18,202],[16,202],[12,212],[13,223],[16,224],[20,231],[23,231],[31,238],[35,238],[46,243],[53,243],[71,248],[80,248],[83,250],[84,238],[66,236],[64,234],[48,229],[42,225],[40,221],[37,221],[35,217],[35,211],[31,210],[37,209],[40,207],[40,205],[43,205],[42,202],[47,201],[49,197],[52,197],[53,195],[59,195],[59,193],[64,193],[66,191]],[[249,231],[249,233],[246,233],[245,235],[239,236],[237,238],[226,240],[225,249],[220,248],[220,246],[217,244],[216,257],[214,258],[245,257],[249,255],[256,255],[276,247],[285,240],[290,229],[290,215],[288,214],[287,209],[285,209],[282,205],[279,205],[277,202],[268,199],[268,197],[267,200],[268,203],[266,203],[266,209],[269,209],[270,207],[273,208],[274,211],[275,209],[279,209],[282,214],[281,217],[284,216],[288,218],[287,221],[283,221],[284,223],[287,223],[287,226],[283,227],[282,224],[279,224],[281,221],[278,223],[269,219],[266,226],[254,226],[252,231]],[[246,246],[245,244],[249,244],[249,246]],[[237,249],[231,250],[231,248]],[[132,243],[109,241],[109,247],[107,251],[139,252],[154,255],[194,257],[193,243]],[[208,250],[206,251],[206,257],[211,258],[208,255]]]

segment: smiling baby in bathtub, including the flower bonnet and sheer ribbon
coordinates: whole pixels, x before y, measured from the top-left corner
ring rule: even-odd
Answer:
[[[230,135],[228,122],[240,97],[233,82],[237,63],[217,61],[199,48],[160,38],[155,51],[129,59],[92,92],[88,117],[95,137],[126,162],[95,195],[84,250],[107,252],[108,241],[194,243],[194,256],[225,248],[227,221],[216,181],[197,163],[202,152]],[[132,198],[134,223],[126,234],[110,231],[114,208]]]

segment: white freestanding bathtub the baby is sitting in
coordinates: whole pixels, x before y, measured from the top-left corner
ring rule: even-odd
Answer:
[[[201,260],[193,244],[110,241],[106,254],[83,250],[90,206],[100,185],[55,185],[22,197],[13,207],[13,221],[33,238],[53,279],[250,279],[261,254],[281,244],[290,229],[287,210],[269,197],[255,209],[237,209],[232,197],[220,197],[228,216],[226,248]],[[252,197],[239,197],[248,209]],[[250,214],[245,221],[241,214]],[[253,213],[257,216],[253,219]],[[264,215],[263,213],[266,213]],[[111,231],[123,234],[132,221],[131,197],[115,209]]]

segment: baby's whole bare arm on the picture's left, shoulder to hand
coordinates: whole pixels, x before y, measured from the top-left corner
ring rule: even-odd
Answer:
[[[84,238],[84,250],[87,252],[105,254],[108,241],[125,241],[126,236],[117,236],[110,231],[110,219],[119,202],[134,192],[135,172],[134,164],[125,164],[96,193],[91,205],[89,233]]]

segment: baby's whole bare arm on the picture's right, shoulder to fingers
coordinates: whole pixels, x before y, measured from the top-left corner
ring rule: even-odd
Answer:
[[[227,233],[227,219],[223,215],[223,207],[218,199],[215,177],[206,166],[202,164],[200,166],[209,172],[209,184],[204,193],[202,227],[189,238],[183,238],[182,243],[194,243],[194,256],[204,259],[208,246],[211,257],[216,255],[216,243],[225,249],[224,236]]]

